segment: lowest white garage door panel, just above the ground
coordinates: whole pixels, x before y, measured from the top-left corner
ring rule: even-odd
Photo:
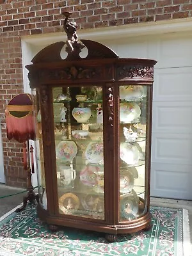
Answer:
[[[151,196],[192,199],[191,165],[152,164]]]

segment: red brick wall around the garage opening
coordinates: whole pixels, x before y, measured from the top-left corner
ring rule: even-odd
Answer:
[[[63,10],[72,11],[79,29],[191,17],[190,0],[0,0],[0,118],[6,184],[26,186],[22,145],[6,138],[4,109],[21,93],[20,36],[63,31]]]

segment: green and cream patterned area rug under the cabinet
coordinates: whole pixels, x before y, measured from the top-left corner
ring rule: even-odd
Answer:
[[[108,243],[104,234],[72,228],[52,233],[37,216],[35,207],[0,218],[1,256],[188,256],[190,243],[188,211],[151,207],[152,228],[148,232],[120,235]],[[185,221],[183,221],[185,219]],[[186,223],[186,224],[184,224]],[[186,226],[186,227],[184,227]]]

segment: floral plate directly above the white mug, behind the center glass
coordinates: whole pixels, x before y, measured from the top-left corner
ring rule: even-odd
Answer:
[[[62,162],[70,162],[77,154],[74,141],[61,141],[56,147],[56,158]]]

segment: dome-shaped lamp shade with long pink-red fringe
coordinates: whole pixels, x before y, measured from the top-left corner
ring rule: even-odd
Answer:
[[[30,94],[21,93],[13,97],[6,106],[5,115],[8,140],[24,142],[35,139],[33,104]]]

